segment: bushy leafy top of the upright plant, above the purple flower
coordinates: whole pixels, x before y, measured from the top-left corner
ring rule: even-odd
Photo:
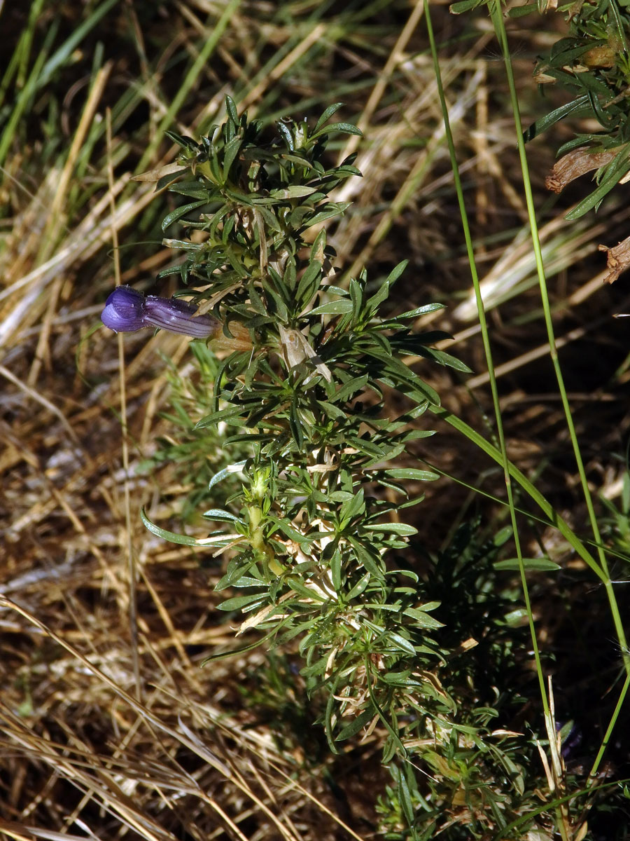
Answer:
[[[180,272],[186,285],[212,283],[215,297],[228,294],[232,307],[247,311],[251,290],[268,268],[283,273],[287,262],[295,262],[304,231],[348,206],[329,201],[328,193],[360,175],[354,156],[330,167],[325,145],[331,131],[360,132],[345,123],[325,125],[341,107],[335,103],[312,130],[306,120],[281,120],[276,138],[265,140],[260,120],[239,117],[229,97],[226,104],[228,119],[198,142],[167,132],[182,148],[181,168],[161,177],[157,188],[168,186],[184,202],[165,217],[162,229],[178,225],[197,234],[194,242],[166,241],[183,249],[186,261],[163,274]],[[254,292],[250,304],[256,301]]]

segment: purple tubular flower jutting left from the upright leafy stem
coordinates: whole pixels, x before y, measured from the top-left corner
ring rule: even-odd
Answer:
[[[116,333],[130,333],[143,327],[161,327],[196,339],[218,334],[220,322],[212,315],[195,315],[197,307],[175,298],[144,295],[130,286],[117,286],[105,302],[102,323]]]

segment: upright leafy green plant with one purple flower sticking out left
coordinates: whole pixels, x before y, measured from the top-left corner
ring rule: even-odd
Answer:
[[[224,553],[218,590],[231,592],[223,610],[246,615],[240,632],[256,629],[257,643],[293,641],[307,688],[327,699],[323,724],[333,750],[379,727],[385,759],[403,759],[422,753],[428,734],[427,767],[437,763],[448,778],[439,810],[465,816],[472,800],[461,792],[475,790],[478,803],[480,777],[460,779],[456,764],[453,777],[455,760],[438,754],[482,753],[480,719],[454,724],[455,701],[437,676],[448,655],[432,638],[441,627],[433,616],[439,601],[423,595],[426,585],[404,561],[416,531],[405,510],[422,499],[410,499],[405,483],[435,474],[399,461],[409,442],[432,434],[416,421],[438,405],[405,358],[463,366],[429,347],[445,334],[410,329],[440,304],[380,315],[404,263],[378,282],[361,272],[348,288],[334,283],[322,223],[346,205],[328,193],[360,174],[352,158],[328,166],[328,135],[358,131],[327,124],[339,104],[312,128],[281,120],[272,140],[260,122],[239,117],[229,98],[227,107],[225,123],[199,142],[170,135],[182,151],[158,180],[186,198],[163,223],[169,233],[176,228],[165,242],[185,259],[162,276],[176,273],[189,302],[120,287],[103,321],[118,331],[153,325],[218,344],[213,411],[197,426],[227,427],[224,449],[246,447],[249,458],[239,455],[212,479],[216,491],[236,472],[242,486],[205,512],[207,537],[166,532],[143,514],[144,524]],[[391,389],[408,407],[394,418],[384,415]],[[412,823],[418,804],[427,804],[407,770],[399,791]],[[433,806],[425,817],[433,822]]]

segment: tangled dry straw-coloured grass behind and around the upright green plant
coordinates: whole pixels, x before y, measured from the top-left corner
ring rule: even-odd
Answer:
[[[194,134],[218,121],[224,93],[265,115],[315,113],[321,103],[344,99],[344,118],[365,132],[358,161],[365,177],[338,197],[355,202],[333,231],[341,265],[352,273],[366,264],[377,276],[410,257],[396,306],[452,304],[439,327],[454,332],[449,349],[475,376],[467,389],[449,373],[433,385],[475,425],[489,405],[486,376],[422,7],[381,5],[362,18],[360,4],[318,16],[318,3],[295,3],[285,17],[273,3],[234,4],[212,57],[195,71],[176,126]],[[182,68],[200,55],[226,8],[190,0],[162,15],[151,4],[115,4],[75,47],[74,59],[39,89],[4,161],[0,835],[8,838],[308,841],[374,833],[378,744],[333,758],[311,752],[317,736],[303,732],[293,734],[302,749],[283,749],[265,711],[248,702],[256,678],[267,680],[260,653],[199,668],[208,653],[234,647],[229,621],[214,609],[220,563],[203,569],[196,553],[139,525],[141,505],[165,523],[172,500],[185,492],[168,466],[150,477],[137,467],[156,437],[170,431],[160,419],[168,387],[158,352],[184,365],[187,342],[163,333],[125,336],[121,368],[113,336],[91,332],[113,285],[113,242],[121,248],[125,283],[173,260],[155,244],[156,220],[170,199],[129,176],[172,160],[161,130],[182,89]],[[59,12],[55,4],[41,12],[38,47]],[[449,18],[445,7],[436,5],[435,13],[444,41],[452,39],[443,71],[483,286],[488,303],[501,304],[491,319],[512,454],[524,468],[545,464],[545,489],[579,526],[569,445],[541,361],[538,304],[527,292],[533,265],[500,66],[491,61],[485,22],[477,21],[475,31],[470,21]],[[0,12],[16,41],[23,15],[18,8]],[[75,15],[80,8],[62,14],[58,40],[76,26]],[[542,37],[517,34],[526,54]],[[98,42],[102,55],[90,74]],[[170,66],[173,56],[179,59]],[[531,66],[517,57],[526,114],[536,107]],[[135,93],[125,111],[129,92]],[[16,100],[18,93],[16,87]],[[99,130],[106,108],[114,111],[109,150]],[[54,149],[47,121],[60,140]],[[553,151],[537,141],[532,154],[543,202]],[[627,364],[621,326],[609,316],[628,304],[617,288],[601,287],[596,247],[627,234],[619,234],[625,214],[613,202],[596,223],[582,226],[564,224],[557,207],[547,214],[543,241],[556,272],[554,305],[579,431],[593,481],[612,486],[622,465],[608,452],[622,452],[627,430]],[[515,289],[522,292],[517,299]],[[594,342],[596,361],[591,354],[585,372],[582,360]],[[121,383],[128,472],[121,461]],[[487,468],[446,432],[431,442],[421,455],[447,472],[475,484]],[[487,489],[498,481],[490,477]],[[423,508],[433,531],[423,535],[438,545],[447,524],[471,505],[477,503],[464,491],[438,484]],[[307,707],[299,692],[296,705]]]

